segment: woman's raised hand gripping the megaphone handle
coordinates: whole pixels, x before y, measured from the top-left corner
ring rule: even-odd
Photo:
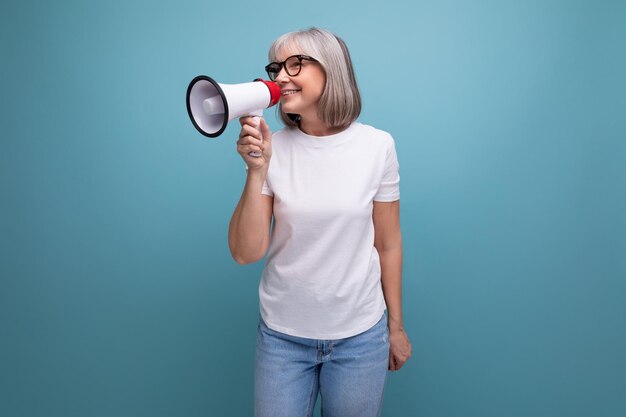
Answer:
[[[272,158],[272,131],[265,123],[265,119],[261,117],[258,120],[260,123],[251,116],[239,119],[241,132],[237,140],[237,152],[245,161],[248,170],[263,169],[267,172]],[[250,152],[260,152],[261,156],[251,156]]]

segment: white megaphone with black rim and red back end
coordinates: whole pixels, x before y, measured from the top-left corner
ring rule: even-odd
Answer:
[[[198,132],[216,138],[232,119],[262,116],[263,109],[280,100],[280,87],[273,81],[257,78],[243,84],[219,84],[199,75],[187,87],[187,113]],[[258,155],[257,155],[258,154]],[[260,153],[252,152],[253,156]]]

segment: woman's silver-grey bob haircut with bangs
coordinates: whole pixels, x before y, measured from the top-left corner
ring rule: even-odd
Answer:
[[[354,76],[352,59],[346,43],[333,33],[319,28],[289,32],[276,39],[269,51],[270,62],[278,60],[283,49],[295,49],[315,58],[324,69],[326,85],[317,107],[317,115],[331,127],[343,127],[354,122],[361,114],[361,94]],[[277,109],[286,126],[296,127],[297,114]]]

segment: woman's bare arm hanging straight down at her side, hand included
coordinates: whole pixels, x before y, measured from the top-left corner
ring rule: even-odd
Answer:
[[[381,281],[389,326],[389,369],[396,371],[411,356],[411,343],[402,318],[402,233],[400,200],[374,201],[374,247],[380,257]]]

